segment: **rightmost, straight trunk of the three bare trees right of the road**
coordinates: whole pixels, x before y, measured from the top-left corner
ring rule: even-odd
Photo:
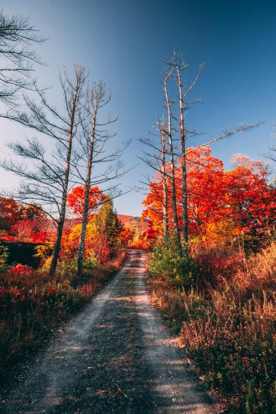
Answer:
[[[184,244],[188,243],[188,193],[187,193],[187,164],[186,164],[186,136],[184,130],[184,97],[181,84],[179,67],[177,70],[177,85],[179,88],[179,128],[181,141],[181,170],[182,170],[182,208],[183,208],[183,225],[182,234]],[[184,247],[186,250],[186,246]]]

